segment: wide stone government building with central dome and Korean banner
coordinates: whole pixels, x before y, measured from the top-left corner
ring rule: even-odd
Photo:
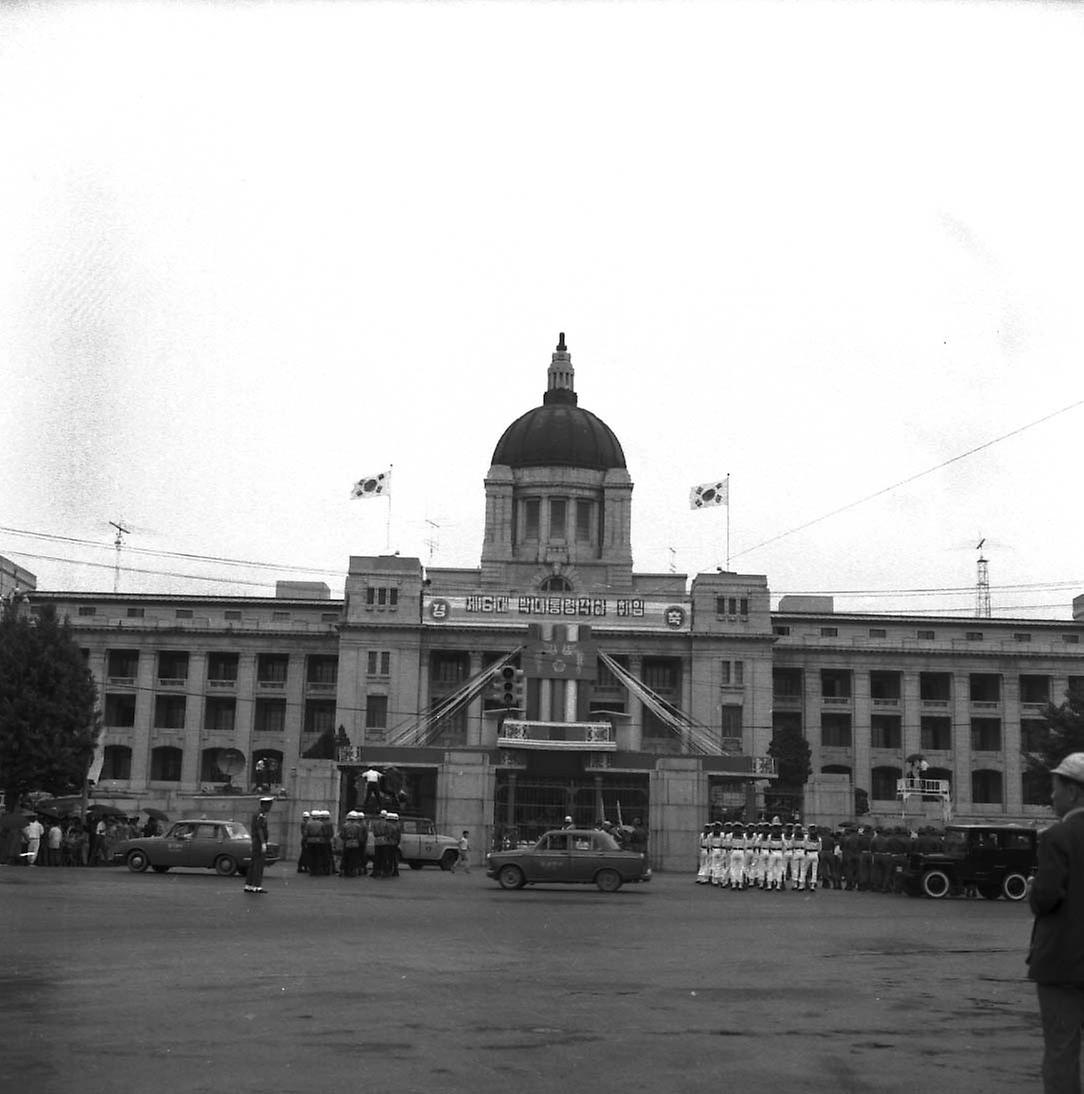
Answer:
[[[354,807],[359,772],[394,765],[407,808],[476,847],[567,814],[640,816],[654,864],[684,870],[706,821],[764,807],[789,725],[813,753],[806,821],[852,816],[859,787],[874,817],[940,822],[940,804],[897,798],[917,752],[956,818],[1049,816],[1019,754],[1047,701],[1084,687],[1084,596],[1073,621],[843,614],[830,597],[772,612],[761,574],[634,572],[632,480],[578,405],[563,335],[547,380],[493,451],[477,569],[352,557],[341,601],[312,582],[35,591],[71,619],[102,696],[95,796],[246,815],[223,787],[275,787],[292,854],[303,808]],[[327,733],[336,758],[304,758]]]

